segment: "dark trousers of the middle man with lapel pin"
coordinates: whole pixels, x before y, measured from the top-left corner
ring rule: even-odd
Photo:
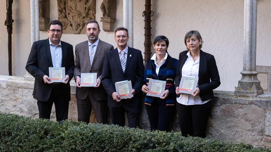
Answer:
[[[122,104],[120,107],[109,107],[109,113],[111,117],[112,124],[124,126],[125,125],[125,112],[128,119],[128,126],[130,128],[135,128],[138,126],[139,121],[139,105],[128,107]]]

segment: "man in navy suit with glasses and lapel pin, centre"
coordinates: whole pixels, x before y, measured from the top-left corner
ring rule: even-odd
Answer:
[[[117,48],[107,52],[103,63],[102,84],[108,94],[108,106],[113,124],[125,125],[125,112],[129,127],[137,127],[140,108],[140,91],[144,77],[144,64],[141,51],[127,46],[128,30],[115,30]],[[115,83],[131,80],[134,97],[120,99]]]

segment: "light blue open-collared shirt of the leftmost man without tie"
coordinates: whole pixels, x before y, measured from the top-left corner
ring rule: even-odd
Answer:
[[[58,45],[53,45],[49,38],[50,52],[52,57],[53,67],[61,67],[62,63],[62,49],[61,49],[61,41],[59,41]]]

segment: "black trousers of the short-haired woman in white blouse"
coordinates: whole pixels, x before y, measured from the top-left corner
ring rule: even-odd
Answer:
[[[204,104],[183,105],[176,102],[182,135],[206,137],[207,121],[212,110],[212,100]]]

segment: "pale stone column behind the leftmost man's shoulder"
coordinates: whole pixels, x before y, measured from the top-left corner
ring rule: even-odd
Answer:
[[[39,10],[38,0],[30,0],[31,15],[31,45],[39,40]]]

